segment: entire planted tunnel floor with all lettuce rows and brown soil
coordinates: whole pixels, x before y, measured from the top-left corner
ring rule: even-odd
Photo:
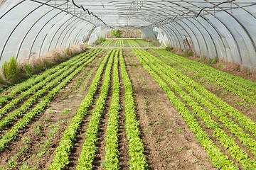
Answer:
[[[1,169],[256,169],[255,82],[114,43],[1,94]]]

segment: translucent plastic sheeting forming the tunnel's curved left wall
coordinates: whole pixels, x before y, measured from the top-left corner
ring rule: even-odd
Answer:
[[[6,1],[0,6],[0,65],[40,57],[56,48],[82,43],[92,23],[33,1]]]

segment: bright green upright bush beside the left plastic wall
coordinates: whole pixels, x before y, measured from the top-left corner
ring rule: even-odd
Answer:
[[[11,57],[9,62],[4,62],[3,72],[4,77],[11,84],[15,84],[18,81],[18,63],[14,56]]]

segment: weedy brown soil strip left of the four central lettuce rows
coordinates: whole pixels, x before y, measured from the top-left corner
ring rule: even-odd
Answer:
[[[88,64],[60,94],[53,98],[53,101],[44,113],[38,115],[27,128],[21,130],[16,140],[11,142],[11,144],[1,152],[0,167],[8,167],[8,162],[11,160],[18,163],[18,169],[20,169],[23,164],[39,169],[46,169],[50,166],[55,156],[55,149],[58,147],[58,143],[61,141],[64,131],[70,124],[68,121],[71,120],[76,111],[78,111],[83,98],[85,98],[89,90],[95,72],[92,73],[90,79],[85,80],[83,78],[90,72],[90,69],[95,67],[97,69],[101,60],[102,59],[98,57],[94,62]],[[78,81],[80,81],[82,85],[87,84],[85,91],[82,91],[82,86],[77,87]],[[36,129],[37,127],[39,127],[39,130]],[[56,129],[57,132],[55,132],[53,139],[50,140],[48,135],[54,129]],[[21,140],[23,137],[27,137],[31,142],[28,142],[27,152],[19,154],[21,148],[24,147]],[[49,141],[50,145],[43,147],[46,141]],[[43,153],[44,148],[46,152],[40,155],[40,153]],[[15,159],[17,154],[18,158]]]

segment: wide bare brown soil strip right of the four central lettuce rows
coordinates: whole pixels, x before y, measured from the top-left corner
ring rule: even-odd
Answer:
[[[125,60],[138,102],[137,116],[149,169],[214,169],[165,92],[134,55]]]

